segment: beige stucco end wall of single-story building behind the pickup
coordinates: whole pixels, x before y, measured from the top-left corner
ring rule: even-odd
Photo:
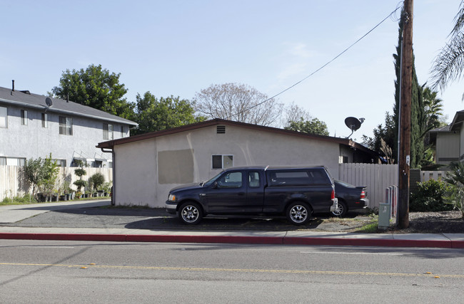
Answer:
[[[115,147],[115,203],[163,207],[168,192],[178,184],[160,184],[158,153],[191,150],[193,181],[201,182],[221,172],[211,169],[211,155],[233,155],[233,166],[323,164],[338,177],[339,145],[273,132],[256,132],[245,127],[226,126],[226,134],[216,134],[216,126],[175,135],[156,137]],[[177,168],[173,162],[173,168]],[[166,166],[164,166],[166,167]],[[189,166],[190,167],[190,166]],[[189,172],[191,173],[191,172]],[[158,175],[159,174],[159,175]]]

